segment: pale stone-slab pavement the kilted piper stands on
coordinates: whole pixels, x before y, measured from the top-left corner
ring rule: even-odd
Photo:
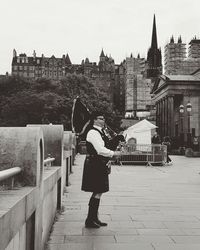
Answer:
[[[172,156],[173,166],[112,166],[99,217],[86,229],[90,193],[80,191],[84,155],[77,155],[48,250],[199,250],[200,159]]]

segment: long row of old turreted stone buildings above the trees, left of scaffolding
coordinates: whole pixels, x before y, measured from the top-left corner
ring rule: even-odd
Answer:
[[[68,54],[61,58],[54,55],[45,57],[43,54],[39,57],[33,51],[33,56],[29,57],[25,53],[17,55],[16,50],[13,50],[12,75],[27,79],[59,80],[68,73],[82,74],[109,93],[111,105],[124,112],[124,71],[123,67],[119,67],[111,56],[104,54],[103,49],[98,64],[90,62],[88,58],[82,60],[81,64],[72,64]]]

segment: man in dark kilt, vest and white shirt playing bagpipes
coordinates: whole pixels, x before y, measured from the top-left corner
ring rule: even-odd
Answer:
[[[85,227],[99,228],[107,226],[98,218],[100,199],[103,193],[109,191],[109,160],[118,158],[119,151],[113,151],[106,147],[108,138],[103,132],[105,118],[101,112],[93,112],[91,115],[93,126],[86,136],[87,155],[84,162],[82,187],[86,192],[92,192]]]

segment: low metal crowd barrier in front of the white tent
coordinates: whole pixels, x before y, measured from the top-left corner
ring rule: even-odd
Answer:
[[[123,163],[146,163],[147,165],[165,165],[167,160],[167,146],[160,144],[126,144],[123,146],[119,158]]]

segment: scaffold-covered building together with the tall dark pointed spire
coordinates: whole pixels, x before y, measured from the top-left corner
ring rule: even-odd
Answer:
[[[127,117],[139,117],[139,112],[145,116],[153,114],[154,103],[151,89],[156,78],[162,74],[161,49],[158,48],[156,18],[153,18],[151,47],[147,59],[134,58],[131,54],[126,58],[125,71],[125,110]],[[146,112],[147,111],[147,112]],[[141,114],[140,114],[141,115]]]

